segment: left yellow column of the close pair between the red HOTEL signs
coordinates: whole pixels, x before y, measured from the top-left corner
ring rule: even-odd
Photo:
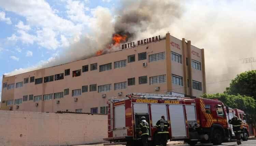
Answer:
[[[184,78],[184,91],[185,91],[185,94],[187,95],[188,92],[187,92],[187,63],[186,63],[186,50],[187,50],[187,47],[186,47],[186,42],[185,42],[185,38],[182,38],[182,61],[183,61],[183,78]]]

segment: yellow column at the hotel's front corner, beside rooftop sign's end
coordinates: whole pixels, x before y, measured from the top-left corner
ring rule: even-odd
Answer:
[[[167,80],[167,92],[172,91],[172,68],[171,68],[171,41],[170,33],[166,34],[166,80]]]

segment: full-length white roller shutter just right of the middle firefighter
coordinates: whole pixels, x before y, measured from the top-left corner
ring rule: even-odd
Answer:
[[[183,105],[169,105],[172,137],[186,137],[186,121]]]

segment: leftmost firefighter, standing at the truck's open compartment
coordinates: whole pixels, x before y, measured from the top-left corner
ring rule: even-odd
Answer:
[[[146,121],[146,117],[142,116],[140,118],[140,124],[139,124],[139,135],[141,136],[142,145],[148,146],[147,137],[149,135],[149,125]]]

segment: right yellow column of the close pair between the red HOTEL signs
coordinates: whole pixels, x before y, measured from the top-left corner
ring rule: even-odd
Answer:
[[[192,68],[191,68],[191,41],[187,41],[187,62],[188,62],[188,88],[189,88],[189,94],[193,96],[192,92]]]

